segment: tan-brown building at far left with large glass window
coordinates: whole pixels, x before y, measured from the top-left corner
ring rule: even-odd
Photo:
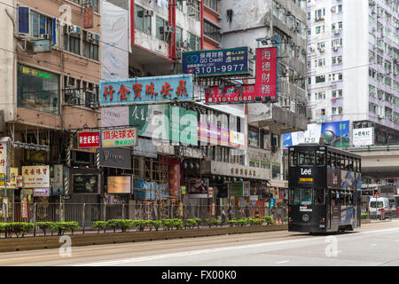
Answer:
[[[66,149],[74,147],[70,130],[99,126],[99,4],[98,0],[0,4],[1,130],[10,138],[11,172],[7,170],[6,176],[21,175],[25,180],[24,190],[13,192],[14,201],[23,196],[29,201],[50,196],[57,200],[65,193],[64,177],[87,171],[82,165],[66,165]],[[80,153],[73,155],[79,160]],[[58,184],[56,169],[63,176]],[[86,201],[98,201],[98,195],[91,197]]]

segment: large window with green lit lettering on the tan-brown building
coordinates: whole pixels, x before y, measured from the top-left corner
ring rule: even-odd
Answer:
[[[18,106],[59,114],[59,75],[19,65]]]

